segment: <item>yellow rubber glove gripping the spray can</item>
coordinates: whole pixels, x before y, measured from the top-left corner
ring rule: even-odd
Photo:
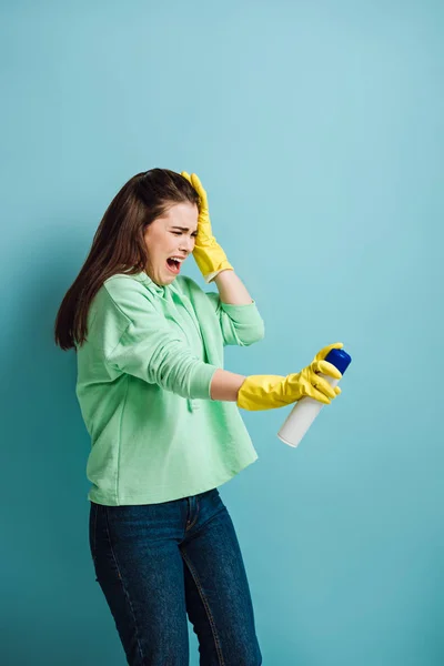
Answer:
[[[312,363],[301,372],[281,375],[250,375],[238,393],[238,407],[251,412],[259,410],[274,410],[289,405],[305,395],[319,402],[330,404],[341,393],[339,386],[331,386],[326,380],[316,373],[323,373],[336,380],[342,377],[340,371],[324,361],[331,350],[343,347],[342,342],[336,342],[323,347]]]

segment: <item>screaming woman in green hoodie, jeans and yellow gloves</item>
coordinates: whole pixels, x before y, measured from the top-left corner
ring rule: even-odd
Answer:
[[[206,293],[181,275],[193,254]],[[56,342],[74,347],[91,436],[90,546],[132,666],[259,665],[245,568],[218,486],[258,458],[238,407],[303,395],[330,403],[341,377],[322,350],[300,373],[245,377],[223,347],[264,335],[255,302],[216,242],[195,174],[152,169],[109,205],[67,292]]]

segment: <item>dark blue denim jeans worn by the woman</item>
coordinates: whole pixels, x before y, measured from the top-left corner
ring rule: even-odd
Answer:
[[[218,488],[162,502],[91,502],[90,547],[128,664],[189,666],[186,615],[201,666],[259,666],[253,605]]]

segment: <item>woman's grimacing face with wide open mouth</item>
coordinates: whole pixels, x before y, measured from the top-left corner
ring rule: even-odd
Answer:
[[[194,250],[199,209],[195,203],[174,203],[145,230],[147,273],[159,285],[171,284],[179,275],[182,262]]]

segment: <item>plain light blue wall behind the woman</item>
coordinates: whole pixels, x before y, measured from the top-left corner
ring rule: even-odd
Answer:
[[[353,357],[297,448],[290,407],[242,412],[260,458],[221,495],[264,664],[442,665],[444,6],[159,4],[1,3],[0,662],[124,663],[52,330],[111,199],[163,167],[200,175],[265,321],[225,367]]]

